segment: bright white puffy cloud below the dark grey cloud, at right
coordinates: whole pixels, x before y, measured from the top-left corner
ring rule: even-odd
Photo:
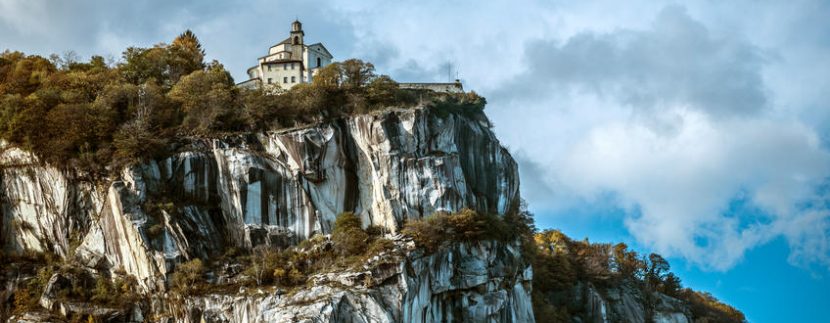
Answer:
[[[714,269],[775,236],[799,234],[777,226],[800,221],[796,204],[830,175],[830,154],[812,131],[763,119],[715,121],[684,108],[663,113],[674,115],[675,133],[636,121],[597,125],[560,165],[563,188],[617,192],[638,241]],[[739,194],[770,217],[729,214]]]

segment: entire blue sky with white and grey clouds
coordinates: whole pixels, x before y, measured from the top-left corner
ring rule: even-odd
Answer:
[[[0,0],[0,50],[117,61],[193,30],[237,81],[300,19],[488,99],[540,228],[666,256],[751,322],[827,322],[830,2]]]

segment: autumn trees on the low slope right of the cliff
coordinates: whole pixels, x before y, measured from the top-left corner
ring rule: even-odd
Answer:
[[[643,295],[647,317],[654,311],[654,293],[685,301],[695,322],[744,322],[743,313],[721,303],[711,294],[683,288],[670,272],[669,263],[658,254],[641,257],[624,243],[576,241],[558,230],[533,236],[533,307],[537,317],[552,322],[570,322],[583,315],[582,304],[568,300],[579,284],[599,288],[631,286]]]

